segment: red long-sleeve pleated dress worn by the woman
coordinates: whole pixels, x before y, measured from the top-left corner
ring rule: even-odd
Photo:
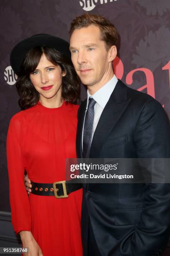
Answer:
[[[28,197],[24,170],[33,182],[65,180],[65,158],[76,158],[77,105],[46,108],[37,103],[10,121],[7,164],[12,223],[16,233],[32,234],[44,256],[81,256],[82,189],[67,198]]]

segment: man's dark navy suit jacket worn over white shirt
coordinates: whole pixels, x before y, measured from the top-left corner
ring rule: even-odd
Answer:
[[[77,157],[87,100],[78,112]],[[159,102],[118,80],[95,130],[90,158],[170,158],[170,124]],[[83,185],[82,243],[90,217],[102,256],[161,255],[170,236],[170,184]]]

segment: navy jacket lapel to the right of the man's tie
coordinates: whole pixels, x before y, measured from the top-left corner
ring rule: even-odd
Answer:
[[[108,100],[97,124],[90,150],[90,158],[98,158],[107,136],[116,125],[127,108],[130,99],[127,99],[128,87],[118,80],[110,99]]]

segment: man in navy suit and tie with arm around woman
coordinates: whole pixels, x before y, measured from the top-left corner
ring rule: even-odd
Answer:
[[[170,158],[170,125],[160,103],[113,73],[116,42],[117,30],[100,15],[71,23],[72,62],[87,85],[77,157]],[[159,256],[169,236],[169,184],[83,185],[84,256]]]

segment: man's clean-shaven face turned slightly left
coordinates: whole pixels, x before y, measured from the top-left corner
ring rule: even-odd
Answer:
[[[72,63],[81,82],[87,86],[102,87],[112,72],[110,50],[100,40],[97,26],[75,29],[70,37]]]

